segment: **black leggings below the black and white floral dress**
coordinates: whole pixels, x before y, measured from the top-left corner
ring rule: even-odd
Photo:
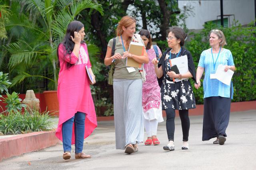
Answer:
[[[175,109],[168,108],[166,111],[166,130],[169,141],[174,141],[174,130],[175,130]],[[181,127],[183,133],[183,141],[188,141],[190,121],[188,117],[188,110],[179,110]]]

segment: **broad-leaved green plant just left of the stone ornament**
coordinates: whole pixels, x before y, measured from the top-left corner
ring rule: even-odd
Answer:
[[[6,93],[6,98],[3,97],[3,103],[7,104],[5,107],[8,113],[14,111],[18,112],[22,109],[22,107],[26,107],[25,104],[21,103],[21,99],[18,96],[19,94],[16,92],[12,92],[12,94]]]

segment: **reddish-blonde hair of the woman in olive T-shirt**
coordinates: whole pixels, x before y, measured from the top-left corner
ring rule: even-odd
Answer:
[[[122,29],[122,27],[124,26],[125,28],[129,27],[130,25],[132,25],[133,23],[136,23],[136,20],[131,17],[131,16],[124,16],[119,22],[118,22],[118,26],[116,29],[116,36],[120,36],[124,33],[124,30]],[[126,49],[128,49],[130,42],[131,42],[132,37],[129,37],[126,41]]]

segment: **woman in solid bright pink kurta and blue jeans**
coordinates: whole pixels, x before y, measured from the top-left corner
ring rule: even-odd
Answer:
[[[58,46],[60,112],[56,136],[63,142],[64,159],[71,157],[72,144],[75,144],[75,158],[90,158],[82,152],[83,142],[97,127],[86,66],[90,74],[93,73],[84,35],[84,25],[80,21],[72,21],[64,41]],[[95,83],[95,76],[92,77]]]

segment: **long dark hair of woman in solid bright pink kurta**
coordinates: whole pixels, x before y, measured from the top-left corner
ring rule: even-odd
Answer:
[[[80,21],[71,21],[68,24],[68,28],[66,31],[66,34],[64,36],[63,41],[60,44],[63,44],[65,47],[65,51],[66,54],[64,55],[64,57],[66,57],[66,55],[70,55],[74,49],[75,43],[72,41],[71,37],[74,37],[74,32],[75,31],[80,31],[80,29],[82,29],[82,27],[84,26],[84,24],[82,24],[82,22]],[[60,44],[58,45],[58,49],[60,47]],[[60,59],[59,59],[59,54],[58,54],[58,49],[57,49],[57,57],[58,57],[58,66],[60,66]],[[71,57],[70,57],[70,61],[71,61]],[[70,64],[68,62],[66,62],[67,68],[70,68],[71,66],[73,66],[74,64]]]

